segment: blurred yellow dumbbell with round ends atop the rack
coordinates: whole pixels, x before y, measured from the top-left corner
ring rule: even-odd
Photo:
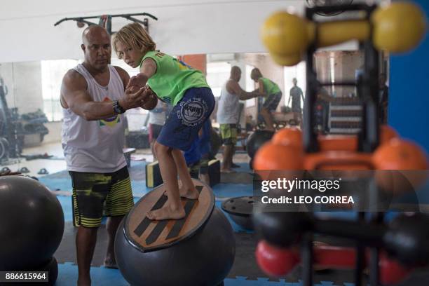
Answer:
[[[343,20],[316,23],[279,11],[264,22],[261,38],[275,62],[291,66],[301,61],[311,43],[325,47],[351,39],[365,41],[372,37],[374,46],[379,50],[403,53],[416,47],[423,39],[425,31],[425,15],[418,6],[410,2],[395,2],[377,8],[370,22]]]

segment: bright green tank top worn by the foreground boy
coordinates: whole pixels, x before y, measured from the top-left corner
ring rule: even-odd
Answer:
[[[156,73],[147,84],[164,102],[175,106],[189,88],[210,88],[201,71],[189,67],[177,58],[154,50],[146,53],[142,62],[148,57],[156,62]]]

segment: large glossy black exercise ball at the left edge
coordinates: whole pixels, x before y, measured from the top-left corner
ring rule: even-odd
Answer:
[[[29,177],[0,177],[0,271],[50,261],[63,232],[62,207],[46,186]]]

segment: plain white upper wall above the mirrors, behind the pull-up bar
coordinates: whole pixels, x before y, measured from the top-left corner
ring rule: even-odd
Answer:
[[[259,27],[268,15],[303,0],[96,0],[4,1],[0,10],[0,62],[81,58],[82,29],[62,18],[151,13],[149,30],[158,48],[175,55],[261,52]],[[300,8],[301,7],[301,8]],[[142,17],[137,17],[143,19]],[[94,22],[97,22],[95,19]],[[115,31],[128,23],[114,18]]]

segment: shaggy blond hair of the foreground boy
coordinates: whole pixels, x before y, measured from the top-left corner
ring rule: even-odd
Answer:
[[[122,42],[125,46],[130,48],[140,50],[143,55],[149,52],[150,50],[156,49],[156,43],[152,40],[151,36],[147,34],[146,30],[139,23],[132,23],[125,25],[113,36],[112,46],[118,55],[116,50],[116,43]],[[121,59],[121,56],[118,55]]]

